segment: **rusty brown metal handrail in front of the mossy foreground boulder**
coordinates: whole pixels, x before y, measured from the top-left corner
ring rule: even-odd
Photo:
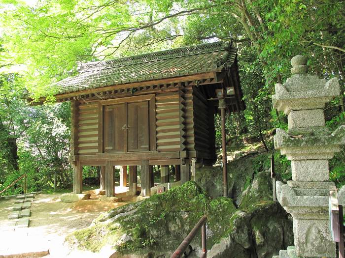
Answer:
[[[197,234],[198,230],[201,228],[201,243],[202,243],[202,250],[203,254],[201,258],[206,258],[207,248],[206,248],[206,220],[207,217],[203,216],[199,222],[194,226],[194,228],[189,232],[186,238],[182,241],[182,243],[177,247],[175,252],[170,258],[180,258],[182,257],[184,251],[189,246],[190,242],[192,242],[194,236]]]

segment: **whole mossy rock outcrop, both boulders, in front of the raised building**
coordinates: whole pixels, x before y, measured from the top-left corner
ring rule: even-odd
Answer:
[[[207,257],[268,258],[292,244],[291,221],[278,203],[247,201],[240,210],[232,199],[212,200],[192,181],[105,212],[89,228],[71,233],[67,241],[94,252],[110,246],[115,252],[112,258],[169,257],[204,214]],[[188,253],[200,257],[200,233]]]

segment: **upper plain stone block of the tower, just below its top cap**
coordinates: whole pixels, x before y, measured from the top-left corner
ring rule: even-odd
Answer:
[[[287,116],[287,123],[289,129],[324,126],[325,116],[322,109],[292,110]]]

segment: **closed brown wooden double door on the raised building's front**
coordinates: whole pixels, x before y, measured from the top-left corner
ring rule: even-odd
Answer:
[[[104,106],[104,152],[149,150],[149,101]]]

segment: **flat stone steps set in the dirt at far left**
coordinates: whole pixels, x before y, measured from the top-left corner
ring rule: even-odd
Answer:
[[[28,228],[30,223],[30,208],[31,202],[34,201],[34,194],[18,195],[12,212],[9,214],[8,219],[13,220],[11,224],[15,228]]]

